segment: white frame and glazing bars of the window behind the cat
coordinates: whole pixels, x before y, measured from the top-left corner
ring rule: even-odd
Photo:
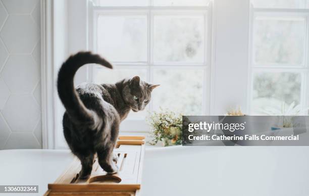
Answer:
[[[202,114],[206,115],[210,112],[210,70],[212,62],[212,2],[209,6],[191,6],[191,7],[176,7],[176,6],[146,6],[146,7],[101,7],[89,4],[89,49],[94,53],[97,52],[96,43],[96,21],[100,15],[118,16],[118,15],[146,15],[147,17],[147,61],[146,62],[112,62],[114,69],[146,69],[147,82],[153,83],[153,70],[160,68],[182,68],[182,69],[202,69],[203,76],[203,102]],[[157,15],[180,15],[180,16],[200,16],[204,19],[204,59],[202,63],[179,63],[153,62],[153,16]],[[90,82],[93,81],[93,73],[95,69],[101,67],[92,65],[88,71]],[[104,68],[103,68],[104,69]],[[149,103],[149,111],[152,110],[152,104]],[[148,132],[149,126],[145,118],[128,118],[121,123],[120,130],[122,132]]]

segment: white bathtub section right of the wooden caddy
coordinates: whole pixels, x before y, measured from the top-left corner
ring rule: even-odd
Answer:
[[[307,196],[308,146],[175,146],[145,154],[142,195]]]

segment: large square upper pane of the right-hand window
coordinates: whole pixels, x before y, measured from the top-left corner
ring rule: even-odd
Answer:
[[[300,65],[303,62],[304,29],[304,18],[256,18],[255,63]]]

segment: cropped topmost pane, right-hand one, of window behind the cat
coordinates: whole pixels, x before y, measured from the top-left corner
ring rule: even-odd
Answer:
[[[210,0],[153,0],[154,6],[207,6]]]

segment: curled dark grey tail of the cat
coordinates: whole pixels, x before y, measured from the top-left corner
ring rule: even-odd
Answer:
[[[71,120],[75,123],[93,125],[97,124],[100,119],[97,114],[88,110],[81,102],[73,84],[76,71],[83,65],[96,63],[107,68],[113,69],[113,66],[99,55],[91,52],[79,52],[70,56],[64,62],[58,73],[58,94]]]

